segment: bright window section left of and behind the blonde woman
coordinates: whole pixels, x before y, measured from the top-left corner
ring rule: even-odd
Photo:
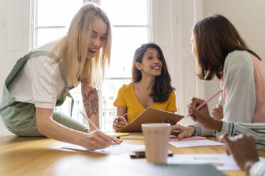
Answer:
[[[34,2],[34,48],[66,35],[73,16],[83,5],[83,0],[35,0]],[[71,95],[75,99],[73,118],[83,122],[83,117],[80,116],[80,110],[83,109],[80,86],[72,89]],[[70,116],[71,99],[67,98],[62,106],[56,107],[56,110]]]

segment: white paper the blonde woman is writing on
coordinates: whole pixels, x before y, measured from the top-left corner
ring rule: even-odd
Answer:
[[[83,150],[93,153],[103,153],[108,155],[118,155],[121,153],[128,153],[136,150],[145,149],[145,145],[136,145],[136,144],[127,144],[121,143],[119,145],[110,145],[108,148],[98,149],[98,150],[89,150],[87,148],[83,148],[79,145],[73,145],[71,143],[63,145],[62,148],[70,149],[70,150]]]

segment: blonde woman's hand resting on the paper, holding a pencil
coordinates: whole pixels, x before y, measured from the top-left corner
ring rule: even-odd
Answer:
[[[113,136],[108,136],[107,134],[95,130],[90,133],[85,134],[85,138],[81,141],[81,146],[88,148],[90,150],[101,149],[109,147],[110,145],[120,144],[123,141],[120,141],[118,138]]]

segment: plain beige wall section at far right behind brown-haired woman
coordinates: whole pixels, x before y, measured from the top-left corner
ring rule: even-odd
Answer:
[[[265,65],[265,1],[264,0],[204,0],[204,16],[219,13],[226,16],[239,31],[240,35],[254,50]],[[219,89],[219,81],[206,82],[206,97]],[[209,107],[217,103],[217,98]]]

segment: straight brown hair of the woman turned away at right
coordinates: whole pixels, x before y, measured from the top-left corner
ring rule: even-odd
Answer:
[[[225,58],[234,50],[246,50],[261,60],[247,47],[234,25],[222,15],[209,16],[197,22],[193,33],[201,67],[199,79],[211,80],[214,76],[221,79]]]

